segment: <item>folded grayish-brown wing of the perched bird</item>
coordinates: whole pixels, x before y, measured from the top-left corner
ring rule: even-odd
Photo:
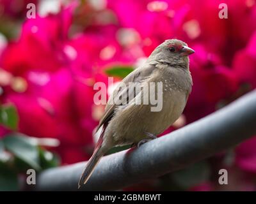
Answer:
[[[141,66],[140,68],[135,69],[122,80],[122,82],[126,85],[126,88],[116,87],[116,89],[113,91],[113,94],[111,94],[110,98],[108,99],[104,115],[102,116],[102,119],[100,120],[99,126],[97,127],[96,131],[99,130],[100,126],[109,122],[109,120],[113,117],[115,109],[118,106],[124,103],[127,104],[127,102],[131,101],[133,97],[129,97],[129,95],[127,94],[127,98],[122,98],[122,103],[120,105],[116,105],[115,103],[113,103],[113,101],[115,101],[115,98],[119,98],[120,96],[122,96],[122,94],[124,94],[124,92],[127,92],[127,89],[129,89],[129,82],[141,83],[148,77],[150,77],[155,69],[156,67],[154,65],[146,64],[145,66]]]

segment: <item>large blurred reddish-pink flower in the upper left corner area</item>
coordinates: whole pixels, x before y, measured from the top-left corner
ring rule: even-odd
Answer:
[[[61,46],[67,40],[71,19],[71,9],[67,8],[58,15],[27,20],[19,41],[10,43],[3,52],[0,66],[13,75],[31,69],[56,71],[65,64]]]

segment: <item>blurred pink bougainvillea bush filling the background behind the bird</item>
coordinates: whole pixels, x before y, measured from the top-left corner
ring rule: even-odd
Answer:
[[[28,3],[35,18],[27,17]],[[109,76],[118,82],[166,39],[196,53],[188,105],[165,133],[255,89],[256,3],[221,3],[227,18],[214,0],[0,0],[0,189],[20,189],[28,168],[87,160],[104,110],[93,103],[93,84],[108,84]],[[255,191],[255,145],[256,137],[127,189]],[[218,183],[221,168],[228,185]]]

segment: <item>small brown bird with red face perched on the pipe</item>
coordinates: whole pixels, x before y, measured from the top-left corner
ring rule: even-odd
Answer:
[[[78,187],[87,182],[100,158],[111,147],[127,144],[140,145],[147,140],[152,140],[180,117],[191,92],[192,78],[188,55],[194,52],[183,41],[166,40],[152,52],[143,66],[135,69],[122,80],[127,87],[126,89],[117,87],[108,100],[97,128],[98,131],[102,126],[102,133],[81,175]],[[120,104],[111,103],[123,96],[124,92],[127,93],[130,82],[139,82],[141,87],[146,87],[151,82],[154,82],[153,84],[162,82],[163,90],[160,92],[163,95],[163,106],[161,110],[152,111],[152,103],[147,105],[132,103],[134,99],[143,98],[143,96],[150,98],[150,94],[154,92],[145,91],[147,89],[141,89],[132,97],[131,94],[127,94]],[[159,89],[155,90],[159,92]]]

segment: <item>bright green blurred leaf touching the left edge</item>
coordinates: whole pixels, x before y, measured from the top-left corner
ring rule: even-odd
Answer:
[[[13,105],[2,105],[0,107],[0,123],[10,129],[17,129],[18,113]]]

